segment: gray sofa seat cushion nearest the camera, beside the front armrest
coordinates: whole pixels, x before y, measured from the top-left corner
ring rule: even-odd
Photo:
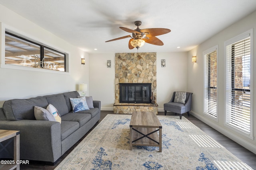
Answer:
[[[78,128],[79,123],[77,121],[62,121],[60,124],[61,141],[71,135]]]

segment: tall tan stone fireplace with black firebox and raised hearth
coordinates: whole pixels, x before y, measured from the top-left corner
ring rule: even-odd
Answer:
[[[157,114],[156,103],[156,53],[116,53],[115,54],[115,104],[114,113],[131,114],[133,111],[154,111]],[[150,102],[120,102],[120,84],[151,84],[150,90],[146,87],[137,88],[137,100],[150,96]],[[128,93],[128,88],[126,88]],[[135,90],[135,88],[134,88]],[[130,89],[130,92],[131,89]],[[144,94],[143,94],[144,93]],[[132,93],[130,93],[132,95]],[[129,93],[128,93],[129,95]],[[136,95],[136,93],[134,93]],[[144,96],[143,96],[144,95]],[[132,96],[126,96],[130,97]],[[135,99],[134,99],[135,100]]]

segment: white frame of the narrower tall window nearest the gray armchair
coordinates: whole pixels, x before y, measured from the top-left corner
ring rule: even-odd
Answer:
[[[206,85],[206,72],[207,72],[207,75],[208,75],[208,72],[210,71],[209,69],[206,70],[206,59],[208,59],[207,55],[209,55],[210,53],[213,53],[214,51],[216,51],[216,62],[217,62],[217,69],[216,69],[216,75],[217,75],[217,80],[216,80],[216,83],[217,83],[217,87],[215,88],[217,90],[217,94],[216,94],[216,117],[214,117],[213,115],[210,115],[208,113],[205,112],[205,109],[206,109],[206,104],[205,104],[205,98],[206,98],[206,95],[208,96],[209,93],[206,93],[206,88],[208,88],[209,86]],[[218,122],[218,45],[206,50],[203,52],[203,57],[204,57],[204,88],[203,88],[203,94],[204,94],[204,107],[203,107],[203,114],[206,116],[206,117],[209,117],[210,119]],[[209,81],[210,80],[207,80],[208,81],[208,84],[209,84]],[[206,87],[207,86],[207,87]],[[211,87],[210,87],[211,88]]]

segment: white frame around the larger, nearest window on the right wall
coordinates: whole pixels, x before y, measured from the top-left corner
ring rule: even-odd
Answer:
[[[228,57],[229,56],[232,57],[232,55],[231,54],[228,55],[229,51],[227,49],[228,49],[228,46],[231,46],[234,43],[237,43],[238,41],[242,41],[242,40],[244,40],[244,39],[246,39],[248,37],[250,37],[250,65],[251,65],[251,67],[250,67],[250,80],[251,80],[250,81],[250,86],[251,86],[251,88],[250,88],[250,132],[249,133],[246,132],[245,130],[242,130],[241,128],[238,128],[238,127],[228,123],[228,115],[229,114],[228,114],[228,106],[227,106],[228,101],[229,101],[229,99],[228,99],[228,88],[231,88],[233,90],[237,90],[236,88],[232,88],[232,86],[228,87],[228,81],[227,81],[227,78],[228,78],[228,68],[229,68],[229,66],[228,66]],[[237,35],[236,37],[234,37],[232,39],[229,39],[229,40],[224,42],[225,60],[226,60],[226,62],[225,62],[225,67],[226,67],[225,68],[225,89],[226,89],[225,90],[225,100],[226,100],[225,107],[226,107],[226,109],[225,109],[225,122],[224,122],[224,125],[226,127],[228,127],[229,129],[232,129],[232,130],[238,132],[239,134],[244,135],[245,137],[248,137],[250,139],[254,139],[254,137],[253,137],[253,133],[254,133],[254,128],[253,128],[253,119],[254,119],[253,118],[253,115],[254,115],[253,114],[253,110],[254,110],[253,94],[254,94],[254,90],[253,90],[253,87],[254,86],[253,86],[253,72],[252,72],[253,47],[254,46],[253,46],[253,30],[252,29],[250,29],[250,30],[248,30],[248,31],[246,31],[246,32],[244,32],[244,33],[242,33],[240,35]],[[232,74],[232,73],[230,73],[230,74]]]

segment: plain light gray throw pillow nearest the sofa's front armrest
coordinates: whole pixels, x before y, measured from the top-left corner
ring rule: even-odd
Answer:
[[[54,115],[43,107],[34,106],[34,115],[36,120],[56,121]]]

